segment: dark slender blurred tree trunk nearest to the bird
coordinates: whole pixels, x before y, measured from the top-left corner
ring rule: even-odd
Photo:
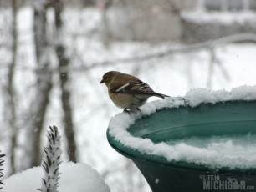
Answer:
[[[60,0],[54,1],[54,13],[55,13],[55,26],[56,26],[56,47],[55,51],[59,59],[59,78],[61,87],[61,100],[62,108],[64,110],[64,130],[68,141],[68,154],[69,160],[77,162],[77,150],[75,144],[74,136],[74,124],[72,118],[72,108],[70,104],[70,90],[69,90],[69,58],[65,55],[64,41],[63,41],[63,31],[62,31],[62,19],[61,13],[63,9],[63,4]]]

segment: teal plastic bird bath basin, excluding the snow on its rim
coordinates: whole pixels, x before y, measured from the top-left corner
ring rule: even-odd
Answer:
[[[162,109],[136,120],[128,131],[134,137],[151,139],[156,144],[194,136],[256,134],[256,101],[228,101],[200,104],[194,108]],[[136,164],[154,192],[214,189],[256,191],[256,169],[215,169],[210,164],[168,161],[161,156],[142,154],[115,140],[109,129],[107,139],[116,151]]]

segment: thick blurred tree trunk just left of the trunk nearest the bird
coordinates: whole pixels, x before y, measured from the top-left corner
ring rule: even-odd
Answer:
[[[35,98],[31,104],[31,117],[28,119],[28,138],[26,145],[25,168],[37,166],[41,163],[41,131],[44,116],[49,104],[49,93],[52,88],[52,75],[49,73],[49,44],[46,33],[47,2],[37,0],[34,3],[34,41],[38,68]],[[45,73],[48,72],[48,73]]]

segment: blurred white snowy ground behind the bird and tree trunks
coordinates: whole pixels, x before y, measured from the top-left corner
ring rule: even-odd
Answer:
[[[38,1],[39,2],[39,1]],[[157,13],[154,8],[154,13]],[[158,10],[159,11],[159,10]],[[226,10],[227,11],[227,10]],[[253,11],[240,14],[239,21],[256,18]],[[0,91],[6,92],[8,81],[8,64],[12,60],[12,37],[8,26],[11,8],[1,8],[0,14]],[[189,13],[191,14],[191,13]],[[186,15],[186,17],[189,16]],[[232,23],[234,13],[225,12],[223,18],[218,15],[220,23]],[[208,39],[208,43],[193,47],[177,41],[132,41],[111,39],[105,43],[102,17],[104,13],[98,8],[65,8],[63,18],[63,33],[61,42],[64,43],[66,57],[69,58],[69,83],[65,88],[71,94],[73,109],[74,134],[77,144],[77,161],[89,164],[96,169],[113,192],[150,191],[141,173],[131,161],[117,154],[110,148],[106,140],[106,129],[110,118],[119,113],[108,98],[105,85],[100,84],[102,75],[109,70],[118,70],[131,73],[151,85],[159,93],[170,96],[184,96],[191,88],[209,88],[212,90],[231,90],[241,85],[255,85],[256,78],[256,44],[253,34],[236,36],[235,42],[242,39],[242,43],[233,43],[223,38],[223,41]],[[201,15],[198,13],[198,15]],[[227,16],[228,15],[228,16]],[[249,17],[248,17],[249,15]],[[47,12],[48,26],[54,23],[54,10]],[[185,17],[185,16],[184,16]],[[214,16],[212,16],[214,17]],[[190,17],[192,20],[203,21],[200,17]],[[213,19],[214,20],[214,19]],[[252,27],[253,28],[253,27]],[[29,126],[29,117],[33,107],[31,100],[35,98],[37,63],[33,43],[33,7],[18,8],[17,12],[17,58],[13,88],[15,90],[17,144],[15,144],[14,165],[11,163],[10,150],[12,149],[12,131],[8,128],[7,106],[4,97],[0,99],[0,149],[7,154],[4,164],[4,176],[11,173],[11,167],[20,172],[26,164],[20,158],[26,158],[26,148],[30,144],[26,129]],[[49,39],[54,41],[54,27],[49,27]],[[114,30],[114,29],[113,29]],[[115,28],[116,30],[116,28]],[[122,30],[119,29],[121,32]],[[239,33],[239,32],[238,32]],[[251,32],[249,32],[251,33]],[[216,38],[216,37],[214,37]],[[227,41],[226,41],[226,40]],[[233,39],[233,38],[231,38]],[[47,57],[51,64],[47,71],[53,75],[53,88],[49,94],[49,108],[44,117],[44,130],[42,131],[42,146],[45,143],[44,133],[49,125],[56,125],[63,139],[62,159],[69,161],[67,139],[64,136],[63,109],[60,101],[59,72],[57,59],[52,56],[53,50],[49,48]],[[151,99],[153,100],[153,99]],[[37,129],[34,129],[36,132]],[[43,147],[42,147],[43,149]],[[28,158],[28,157],[27,157]],[[26,168],[27,169],[27,168]],[[61,191],[61,190],[60,190]]]

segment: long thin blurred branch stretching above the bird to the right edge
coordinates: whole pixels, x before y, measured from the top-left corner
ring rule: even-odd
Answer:
[[[217,38],[214,40],[209,40],[207,42],[203,43],[195,43],[195,44],[182,44],[182,45],[175,45],[170,46],[169,48],[166,48],[166,50],[159,51],[156,53],[145,53],[139,56],[135,57],[128,57],[128,58],[115,58],[111,60],[105,60],[103,62],[93,62],[89,63],[88,65],[84,65],[84,63],[88,63],[87,61],[84,61],[83,58],[81,58],[77,53],[74,53],[74,56],[79,59],[79,63],[81,66],[78,67],[69,67],[68,69],[70,71],[81,71],[81,70],[90,70],[92,68],[100,68],[102,66],[113,66],[118,63],[133,63],[133,62],[144,62],[150,59],[154,58],[165,58],[167,56],[170,56],[175,53],[192,53],[196,52],[197,50],[200,50],[202,48],[205,49],[212,49],[219,45],[226,44],[226,43],[256,43],[256,34],[254,33],[239,33],[239,34],[233,34],[230,36],[226,36],[223,38]],[[1,66],[0,66],[1,68]],[[35,70],[38,73],[59,73],[59,70],[67,71],[67,67],[61,67],[61,68],[31,68],[28,66],[20,66],[19,67],[22,70]]]

